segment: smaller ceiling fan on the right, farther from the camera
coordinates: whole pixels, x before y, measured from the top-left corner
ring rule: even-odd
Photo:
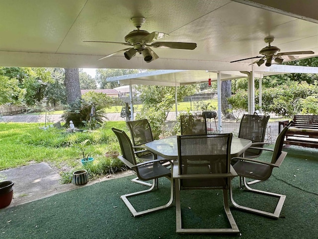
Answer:
[[[268,43],[268,46],[264,47],[259,51],[259,54],[262,54],[263,56],[255,56],[255,57],[249,57],[244,58],[232,62],[238,62],[238,61],[244,61],[248,59],[254,59],[254,58],[260,58],[257,61],[254,61],[252,64],[256,63],[258,66],[261,66],[265,60],[265,66],[271,66],[272,65],[272,59],[274,59],[275,62],[278,64],[281,64],[284,60],[295,60],[298,58],[297,56],[293,55],[300,55],[300,54],[314,54],[313,51],[291,51],[291,52],[279,52],[280,49],[277,46],[271,46],[270,43],[274,41],[273,36],[266,37],[264,41]]]

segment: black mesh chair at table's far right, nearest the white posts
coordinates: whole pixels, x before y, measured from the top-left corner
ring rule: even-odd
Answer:
[[[269,116],[243,115],[239,124],[239,138],[245,138],[252,141],[252,147],[262,148],[264,142],[266,126]],[[260,149],[248,148],[244,152],[245,158],[257,158],[262,153]]]

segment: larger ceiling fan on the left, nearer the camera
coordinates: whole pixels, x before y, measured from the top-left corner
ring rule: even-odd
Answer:
[[[124,51],[124,56],[127,60],[130,60],[131,58],[133,58],[138,52],[139,54],[143,54],[144,60],[146,62],[151,62],[153,60],[158,59],[159,56],[150,47],[187,49],[187,50],[193,50],[197,47],[196,43],[157,41],[163,37],[168,36],[168,34],[163,32],[158,32],[158,31],[149,33],[148,31],[140,30],[140,27],[146,21],[144,17],[133,17],[130,19],[130,21],[133,23],[135,27],[137,27],[137,30],[133,30],[125,36],[126,42],[113,42],[113,41],[84,41],[84,42],[116,43],[116,44],[129,46],[129,48],[125,48],[120,51],[113,52],[98,60],[113,56],[119,52]]]

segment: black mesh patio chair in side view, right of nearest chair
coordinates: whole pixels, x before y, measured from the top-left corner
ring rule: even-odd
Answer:
[[[274,213],[261,211],[258,209],[253,209],[253,208],[249,208],[249,207],[245,207],[245,206],[240,206],[239,204],[237,204],[234,201],[233,193],[232,193],[232,186],[231,186],[230,197],[231,197],[231,201],[232,201],[232,204],[234,205],[234,207],[241,209],[241,210],[249,211],[252,213],[265,215],[268,217],[273,217],[273,218],[279,217],[286,196],[281,195],[281,194],[277,194],[277,193],[268,192],[268,191],[261,191],[261,190],[257,190],[257,189],[252,189],[247,185],[246,178],[265,181],[272,175],[273,168],[279,167],[282,164],[284,158],[287,155],[287,152],[282,151],[282,148],[283,148],[285,134],[286,134],[286,131],[288,130],[289,126],[290,125],[286,125],[283,128],[283,130],[279,133],[279,135],[276,139],[274,149],[255,147],[255,149],[259,149],[259,150],[271,151],[272,156],[271,156],[270,162],[252,159],[252,158],[244,158],[244,157],[233,158],[233,160],[238,160],[233,165],[233,167],[234,167],[235,171],[237,172],[237,174],[240,177],[243,177],[243,183],[244,183],[245,189],[247,189],[248,191],[254,192],[254,193],[268,195],[268,196],[276,197],[279,199],[278,203],[276,204],[276,208],[274,210]]]

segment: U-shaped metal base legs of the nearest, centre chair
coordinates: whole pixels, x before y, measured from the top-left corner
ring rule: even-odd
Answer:
[[[239,234],[239,228],[230,211],[228,201],[228,191],[223,189],[224,210],[228,217],[231,228],[182,228],[181,204],[180,204],[180,188],[179,181],[175,179],[175,213],[176,213],[176,232],[177,233],[236,233]]]

